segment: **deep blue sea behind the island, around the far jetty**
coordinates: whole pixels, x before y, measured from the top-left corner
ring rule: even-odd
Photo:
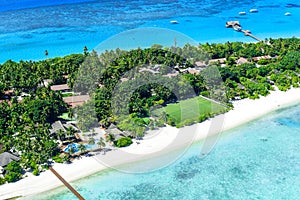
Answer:
[[[48,57],[83,52],[84,46],[91,50],[115,34],[141,27],[168,28],[201,43],[254,41],[224,28],[228,20],[239,20],[261,39],[299,36],[300,8],[286,7],[288,3],[298,1],[0,0],[0,63],[44,59],[46,49]],[[259,12],[251,14],[251,8]],[[248,13],[239,16],[240,11]]]

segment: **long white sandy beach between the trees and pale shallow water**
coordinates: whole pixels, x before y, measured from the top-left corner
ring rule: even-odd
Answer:
[[[106,155],[100,155],[101,159],[95,157],[84,157],[74,161],[72,164],[55,164],[53,168],[59,172],[67,181],[74,181],[88,175],[94,174],[100,170],[107,168],[108,165],[119,165],[122,163],[130,163],[133,161],[143,160],[148,157],[153,157],[171,151],[175,148],[185,146],[191,142],[191,138],[195,140],[204,139],[207,135],[218,135],[220,131],[232,129],[244,123],[252,121],[276,109],[289,106],[291,104],[300,103],[300,88],[293,88],[287,92],[272,91],[267,97],[261,97],[258,100],[244,99],[233,102],[234,109],[207,120],[203,123],[176,129],[173,127],[165,127],[159,132],[146,137],[139,141],[140,144],[134,143],[130,147],[112,152]],[[217,128],[211,129],[211,125],[216,125]],[[197,134],[188,135],[181,134],[190,132],[189,130],[197,130]],[[211,137],[214,140],[214,137]],[[172,145],[170,144],[172,143]],[[203,152],[209,151],[214,145],[206,143],[207,148],[203,147]],[[125,157],[124,155],[134,156]],[[155,166],[154,166],[155,167]],[[62,185],[62,183],[49,170],[43,172],[39,176],[29,175],[16,183],[10,183],[0,186],[0,199],[7,199],[16,196],[28,196],[47,191]]]

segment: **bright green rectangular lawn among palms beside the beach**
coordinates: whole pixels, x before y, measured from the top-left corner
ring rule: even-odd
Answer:
[[[198,121],[199,116],[208,113],[220,113],[226,109],[225,106],[206,100],[202,97],[195,97],[180,101],[179,103],[168,104],[167,106],[154,111],[162,113],[165,111],[170,117],[175,119],[176,124],[186,120]]]

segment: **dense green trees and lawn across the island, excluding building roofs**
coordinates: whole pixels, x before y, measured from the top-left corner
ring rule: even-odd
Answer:
[[[230,107],[230,100],[266,96],[275,89],[274,86],[282,91],[299,87],[299,50],[300,39],[289,38],[258,43],[186,45],[183,48],[155,45],[130,51],[116,49],[100,55],[85,51],[84,54],[36,62],[9,60],[0,65],[2,151],[20,153],[20,166],[31,169],[34,174],[38,174],[40,166],[53,156],[58,162],[66,159],[57,157],[56,142],[65,136],[63,133],[51,135],[49,128],[63,113],[65,118],[66,115],[70,117],[72,110],[67,108],[61,92],[45,86],[45,79],[52,79],[51,84],[67,83],[75,92],[92,96],[91,101],[75,109],[80,113],[76,120],[82,130],[116,124],[132,137],[140,137],[145,130],[166,123],[180,127],[225,111],[219,104],[213,106],[215,110],[210,110],[210,104],[214,103],[199,98],[200,94]],[[258,56],[267,57],[255,58]],[[247,62],[239,63],[240,57],[246,58]],[[211,61],[218,58],[226,58],[225,63]],[[199,73],[185,70],[195,69],[197,61],[205,63],[197,68]],[[155,73],[160,76],[155,82],[148,81],[157,66],[159,70]],[[218,76],[210,71],[212,66],[220,72],[222,84],[218,84]],[[146,72],[138,73],[141,69]],[[175,75],[164,76],[166,74]],[[207,74],[212,74],[209,80],[205,79]],[[120,82],[122,78],[126,80]],[[135,88],[136,85],[140,86]],[[132,93],[124,95],[128,94],[126,91]],[[194,103],[183,101],[193,97],[197,99]],[[179,105],[188,112],[183,115]],[[200,112],[192,109],[194,105],[199,106]],[[152,115],[154,110],[158,114]],[[68,134],[71,132],[68,130]],[[129,139],[119,143],[119,146],[129,144]],[[118,146],[118,142],[116,144]],[[7,181],[20,178],[14,173],[11,171]]]

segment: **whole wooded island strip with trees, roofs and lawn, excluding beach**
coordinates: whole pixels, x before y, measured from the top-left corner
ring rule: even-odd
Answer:
[[[39,175],[53,162],[71,162],[93,152],[129,146],[148,130],[206,121],[234,109],[233,101],[297,88],[299,49],[300,39],[280,38],[257,43],[187,44],[182,48],[153,45],[99,55],[85,48],[83,54],[63,58],[9,60],[0,65],[0,183],[16,182],[26,172]],[[83,65],[87,61],[89,65]],[[90,73],[88,76],[80,76],[82,66],[89,67],[83,70]],[[161,74],[161,83],[172,80],[168,86],[175,88],[174,82],[186,82],[194,94],[184,91],[185,84],[176,88],[177,95],[162,84],[146,84],[128,97],[126,108],[120,105],[114,111],[113,90],[120,82],[120,91],[132,89],[131,81],[137,77],[129,74],[124,78],[124,74],[137,66],[138,72],[145,72],[139,73],[140,80]],[[218,69],[224,83],[221,88],[209,88],[203,74],[210,66]],[[124,96],[114,98],[121,102]],[[204,109],[181,114],[180,107],[193,110],[196,104]],[[152,107],[156,109],[150,112]],[[89,115],[91,108],[95,118]],[[104,137],[97,131],[104,132]]]

